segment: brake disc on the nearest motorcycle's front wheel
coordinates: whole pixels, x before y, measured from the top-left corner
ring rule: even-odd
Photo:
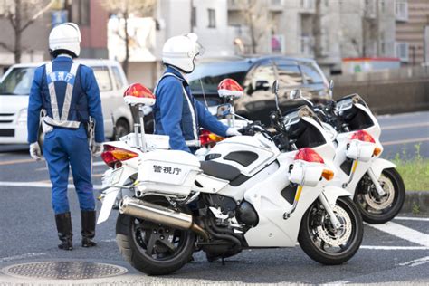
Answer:
[[[338,247],[339,245],[343,245],[348,242],[348,238],[350,238],[352,224],[350,220],[350,216],[348,213],[338,205],[335,205],[332,210],[334,214],[337,216],[339,223],[341,226],[338,227],[337,231],[333,231],[333,227],[326,222],[329,221],[329,216],[325,217],[325,223],[319,225],[316,229],[318,232],[319,238],[329,245]]]

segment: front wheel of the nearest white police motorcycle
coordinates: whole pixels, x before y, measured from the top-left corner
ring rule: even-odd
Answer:
[[[298,237],[304,253],[327,265],[347,262],[358,252],[363,237],[362,218],[350,198],[338,197],[333,211],[340,223],[337,229],[319,201],[311,205],[302,217]]]

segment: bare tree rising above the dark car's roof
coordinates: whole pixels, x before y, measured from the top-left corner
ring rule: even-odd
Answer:
[[[267,5],[261,0],[237,0],[235,3],[243,16],[243,24],[249,27],[252,53],[256,53],[259,42],[272,28]]]

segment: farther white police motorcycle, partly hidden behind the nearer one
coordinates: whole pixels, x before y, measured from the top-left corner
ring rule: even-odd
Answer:
[[[332,88],[333,81],[329,90]],[[290,98],[306,100],[299,90],[292,91]],[[323,105],[307,101],[336,146],[338,176],[331,184],[343,187],[354,197],[367,223],[392,220],[404,205],[405,186],[396,165],[380,157],[381,128],[367,103],[358,94]]]

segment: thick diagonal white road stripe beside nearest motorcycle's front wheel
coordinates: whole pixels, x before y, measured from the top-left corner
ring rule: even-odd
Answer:
[[[429,235],[415,231],[401,224],[387,222],[386,224],[367,224],[372,228],[394,235],[408,242],[429,247]]]

